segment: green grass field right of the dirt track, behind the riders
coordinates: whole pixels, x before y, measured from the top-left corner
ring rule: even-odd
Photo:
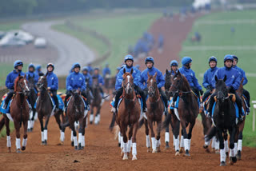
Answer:
[[[187,40],[183,42],[183,47],[187,46],[256,46],[256,30],[255,23],[240,23],[240,24],[198,24],[202,21],[218,21],[218,20],[237,20],[237,19],[254,19],[256,11],[234,11],[226,13],[209,14],[202,18],[199,18],[187,37]],[[230,27],[234,27],[235,33],[230,32]],[[202,42],[192,43],[191,38],[195,31],[202,34]],[[241,67],[246,73],[256,73],[254,68],[256,64],[256,58],[254,55],[256,50],[185,50],[180,52],[180,58],[184,56],[190,56],[193,59],[192,70],[195,71],[199,83],[202,85],[202,77],[199,74],[203,74],[208,68],[208,58],[215,56],[218,58],[218,67],[223,66],[223,58],[226,54],[236,54],[239,58],[238,66]],[[251,100],[256,97],[256,78],[247,77],[248,84],[245,85],[245,89],[249,90]],[[256,99],[255,99],[256,100]],[[253,111],[253,108],[251,108]],[[246,117],[246,125],[243,132],[243,145],[256,147],[256,133],[252,131],[252,113]]]

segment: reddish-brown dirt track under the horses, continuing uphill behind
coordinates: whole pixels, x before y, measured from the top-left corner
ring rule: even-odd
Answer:
[[[171,59],[178,59],[181,43],[190,31],[193,19],[186,22],[166,22],[159,19],[154,22],[150,32],[165,36],[165,47],[161,55],[153,50],[152,56],[157,57],[156,66],[162,71],[169,67]],[[182,26],[183,25],[183,26]],[[182,29],[181,27],[182,26]],[[142,62],[141,62],[142,63]],[[144,66],[144,65],[142,65]],[[15,136],[11,134],[12,153],[7,153],[6,138],[0,139],[0,170],[255,170],[256,149],[242,149],[242,161],[232,166],[220,168],[219,155],[206,153],[202,149],[202,124],[197,122],[191,141],[191,157],[174,156],[174,149],[164,150],[164,132],[162,132],[162,152],[146,152],[146,136],[144,127],[138,131],[138,161],[122,161],[118,142],[114,141],[113,134],[108,130],[110,123],[110,106],[106,102],[102,106],[102,121],[100,125],[89,125],[86,129],[86,148],[74,151],[70,146],[70,129],[66,130],[65,145],[59,142],[58,125],[54,118],[50,118],[47,146],[40,145],[41,133],[38,122],[33,133],[29,133],[27,149],[22,154],[14,153]],[[172,137],[170,136],[170,142]],[[171,143],[170,143],[171,144]],[[74,160],[80,161],[74,163]]]

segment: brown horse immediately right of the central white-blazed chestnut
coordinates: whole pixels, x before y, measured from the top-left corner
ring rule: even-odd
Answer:
[[[160,132],[162,127],[162,114],[165,111],[165,107],[163,105],[158,85],[157,85],[157,73],[154,76],[151,76],[147,73],[147,89],[148,89],[148,100],[147,106],[148,110],[146,112],[146,118],[144,118],[145,125],[145,133],[146,133],[146,147],[148,148],[148,152],[150,152],[150,136],[149,136],[149,126],[151,133],[151,141],[152,141],[152,153],[160,152]],[[155,138],[153,122],[157,122],[157,137]]]

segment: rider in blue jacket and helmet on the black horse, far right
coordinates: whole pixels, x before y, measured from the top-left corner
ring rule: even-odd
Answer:
[[[215,88],[215,83],[216,83],[215,76],[217,76],[218,79],[223,79],[224,76],[226,75],[227,89],[229,90],[230,93],[235,94],[235,98],[236,98],[235,102],[237,103],[238,109],[239,109],[239,120],[242,120],[242,101],[241,101],[241,98],[238,97],[238,94],[235,92],[235,90],[239,88],[241,76],[238,70],[235,70],[232,67],[233,61],[234,61],[233,56],[230,54],[226,54],[226,56],[224,57],[224,67],[219,68],[216,71],[216,73],[214,74],[214,78],[212,78],[212,85]],[[216,95],[217,95],[216,93],[213,93],[210,97],[209,109],[207,113],[210,116],[211,116],[212,108],[214,105],[214,96]]]

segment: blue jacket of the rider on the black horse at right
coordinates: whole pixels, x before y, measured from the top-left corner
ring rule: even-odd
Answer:
[[[234,90],[237,90],[239,88],[241,76],[238,70],[235,70],[234,68],[226,68],[226,66],[219,68],[214,74],[214,78],[212,79],[212,84],[214,85],[214,88],[216,84],[215,75],[218,79],[224,79],[226,75],[226,86],[233,86]]]

